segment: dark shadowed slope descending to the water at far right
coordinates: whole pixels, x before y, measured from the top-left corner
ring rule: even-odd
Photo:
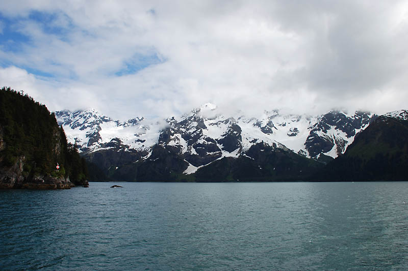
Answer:
[[[318,180],[408,180],[408,111],[379,116]]]

